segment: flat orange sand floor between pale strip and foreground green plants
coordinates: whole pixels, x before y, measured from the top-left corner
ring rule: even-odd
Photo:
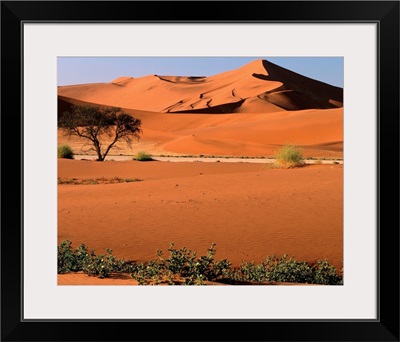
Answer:
[[[149,261],[175,247],[215,259],[261,262],[288,254],[343,265],[343,165],[273,169],[267,163],[58,159],[58,177],[138,178],[117,184],[58,185],[58,243]],[[60,285],[134,285],[129,277],[59,275]]]

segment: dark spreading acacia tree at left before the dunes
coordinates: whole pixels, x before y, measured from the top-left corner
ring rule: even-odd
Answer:
[[[132,141],[140,139],[141,120],[124,113],[118,107],[73,105],[58,119],[58,128],[68,136],[89,140],[88,149],[97,153],[97,160],[104,161],[116,143],[123,140],[131,147]],[[108,138],[108,139],[106,139]]]

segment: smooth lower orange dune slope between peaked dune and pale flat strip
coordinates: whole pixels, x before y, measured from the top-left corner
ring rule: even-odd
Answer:
[[[60,107],[67,110],[71,103],[84,102],[59,97]],[[124,111],[143,123],[136,149],[156,154],[272,156],[279,145],[294,143],[305,148],[305,156],[342,157],[343,108],[245,115],[164,114],[128,108]],[[63,139],[66,138],[60,133],[59,141]]]

